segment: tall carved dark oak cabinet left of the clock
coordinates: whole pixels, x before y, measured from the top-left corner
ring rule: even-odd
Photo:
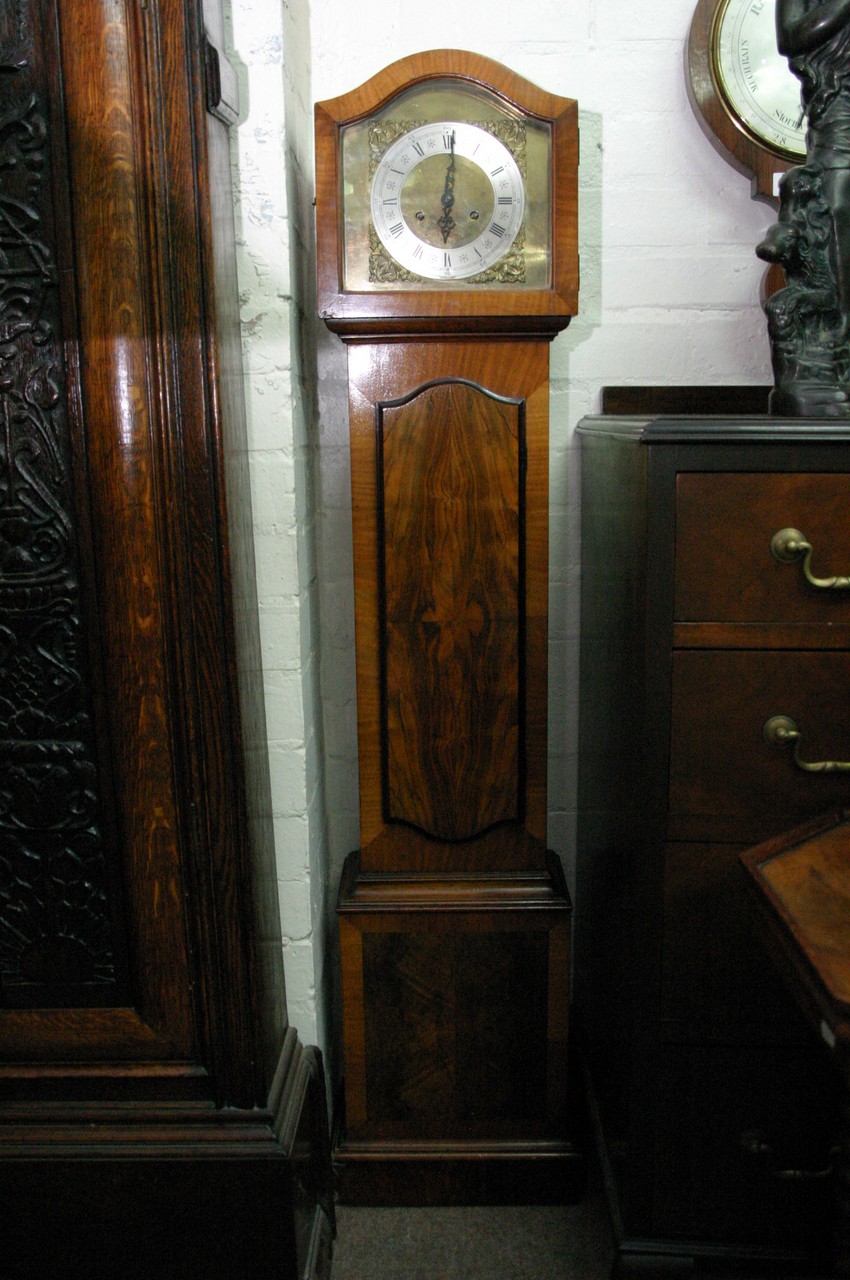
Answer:
[[[205,33],[205,20],[207,33]],[[215,3],[0,10],[4,1274],[326,1275]]]

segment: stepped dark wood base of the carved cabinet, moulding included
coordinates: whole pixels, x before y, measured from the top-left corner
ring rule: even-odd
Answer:
[[[330,1276],[321,1062],[288,1039],[264,1110],[209,1103],[0,1108],[8,1280]]]

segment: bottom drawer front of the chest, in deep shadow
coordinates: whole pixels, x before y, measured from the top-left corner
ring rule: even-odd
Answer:
[[[826,1179],[777,1176],[830,1165],[836,1088],[817,1047],[666,1047],[654,1100],[655,1233],[806,1248],[830,1230]]]

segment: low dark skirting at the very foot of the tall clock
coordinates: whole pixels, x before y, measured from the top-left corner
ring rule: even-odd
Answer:
[[[341,1142],[333,1161],[341,1204],[572,1204],[586,1181],[567,1142]]]

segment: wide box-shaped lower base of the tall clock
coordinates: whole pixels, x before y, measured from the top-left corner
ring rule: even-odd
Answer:
[[[346,1059],[338,1193],[352,1204],[563,1203],[572,908],[561,865],[364,872],[338,902]]]

